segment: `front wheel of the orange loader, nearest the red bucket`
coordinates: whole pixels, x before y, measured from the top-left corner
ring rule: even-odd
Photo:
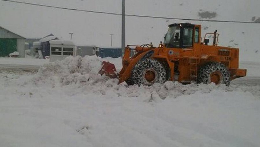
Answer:
[[[152,85],[166,81],[166,70],[164,66],[155,59],[144,59],[138,62],[132,70],[129,78],[133,84]]]

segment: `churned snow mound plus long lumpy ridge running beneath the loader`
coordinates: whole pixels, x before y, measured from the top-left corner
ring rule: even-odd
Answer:
[[[108,97],[142,97],[143,101],[161,101],[166,98],[177,98],[181,95],[191,95],[200,93],[210,93],[213,90],[221,91],[250,91],[256,97],[260,97],[259,84],[249,86],[231,86],[212,84],[187,84],[167,81],[164,84],[155,83],[152,86],[128,86],[125,82],[118,85],[117,79],[109,79],[98,74],[101,69],[102,60],[97,56],[77,56],[67,57],[63,61],[56,61],[45,64],[32,79],[33,83],[41,86],[47,84],[50,87],[69,86],[74,88],[72,95],[77,93],[95,93],[97,95],[107,95]],[[116,68],[120,67],[119,59],[105,59],[111,63],[116,63]]]

